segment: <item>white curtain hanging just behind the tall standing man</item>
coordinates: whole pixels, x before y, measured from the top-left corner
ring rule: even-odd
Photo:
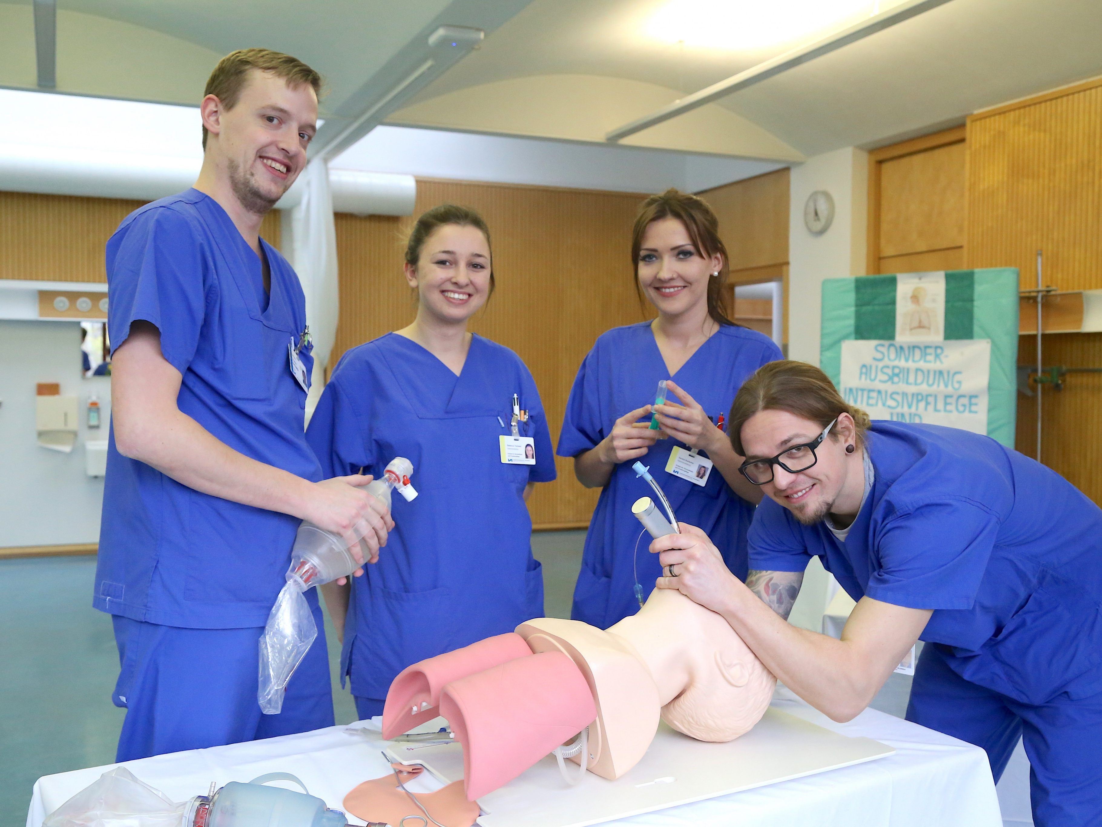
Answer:
[[[291,265],[306,294],[306,324],[314,343],[314,374],[306,397],[306,421],[325,384],[325,367],[337,335],[339,307],[337,235],[328,167],[311,161],[302,171],[302,201],[291,210]],[[285,226],[285,225],[284,225]]]

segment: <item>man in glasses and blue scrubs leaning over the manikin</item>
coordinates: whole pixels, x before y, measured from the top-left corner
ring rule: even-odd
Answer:
[[[982,747],[996,781],[1022,738],[1035,823],[1102,823],[1102,511],[987,437],[869,423],[799,362],[747,380],[731,428],[767,495],[755,570],[744,586],[682,525],[652,546],[658,586],[721,613],[839,721],[925,641],[907,719]],[[813,556],[857,601],[840,641],[785,622]]]

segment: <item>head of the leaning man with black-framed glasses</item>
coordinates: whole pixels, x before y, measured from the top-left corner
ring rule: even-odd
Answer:
[[[865,490],[862,449],[868,415],[846,405],[818,367],[792,361],[761,366],[735,396],[730,422],[731,444],[747,462],[780,454],[780,462],[798,469],[813,460],[795,472],[773,464],[773,479],[761,483],[765,494],[800,523],[857,513]],[[792,454],[786,452],[807,455],[797,447],[813,443],[828,426],[830,432],[812,449],[813,458],[788,461]]]

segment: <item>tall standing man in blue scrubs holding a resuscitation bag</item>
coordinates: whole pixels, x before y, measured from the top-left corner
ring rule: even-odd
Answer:
[[[114,350],[95,606],[112,615],[127,709],[118,760],[333,724],[324,633],[278,716],[258,640],[301,519],[372,554],[392,525],[361,486],[321,481],[303,433],[305,304],[260,223],[306,164],[321,77],[288,55],[225,57],[201,105],[195,186],[107,245]],[[357,552],[358,554],[358,552]],[[317,597],[307,600],[324,629]]]

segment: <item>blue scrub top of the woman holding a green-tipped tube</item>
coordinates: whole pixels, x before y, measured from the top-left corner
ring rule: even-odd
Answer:
[[[782,358],[767,336],[747,327],[724,325],[704,342],[671,377],[658,350],[650,322],[614,327],[597,339],[582,363],[570,391],[559,437],[560,457],[576,457],[607,437],[616,420],[655,401],[660,379],[672,378],[717,421],[731,410],[743,383],[767,362]],[[677,401],[673,394],[670,400]],[[699,526],[724,549],[727,567],[746,577],[746,529],[754,506],[735,494],[715,469],[703,487],[666,472],[670,452],[680,443],[659,440],[641,458],[673,506],[679,520]],[[683,445],[682,445],[683,447]],[[705,453],[706,455],[706,453]],[[649,594],[661,574],[658,557],[647,548],[631,504],[651,494],[636,476],[630,462],[616,466],[601,492],[585,535],[582,571],[574,590],[571,616],[607,629],[639,611],[635,598],[633,554],[642,593]]]

